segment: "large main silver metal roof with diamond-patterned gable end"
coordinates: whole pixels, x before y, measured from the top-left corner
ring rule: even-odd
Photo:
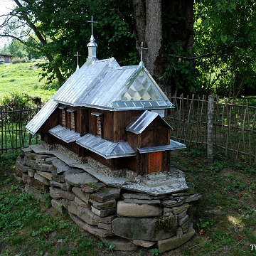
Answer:
[[[144,65],[120,67],[114,58],[85,63],[26,126],[36,134],[58,103],[102,110],[164,110],[174,105]]]

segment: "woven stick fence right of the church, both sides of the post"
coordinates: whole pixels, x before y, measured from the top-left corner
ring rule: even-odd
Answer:
[[[169,111],[174,131],[171,138],[190,144],[207,145],[208,99],[206,96],[169,97],[175,109]],[[213,145],[256,163],[256,107],[230,104],[215,97],[213,112]]]

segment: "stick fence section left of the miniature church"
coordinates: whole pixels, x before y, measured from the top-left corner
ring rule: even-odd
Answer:
[[[23,146],[38,144],[38,134],[32,136],[25,129],[26,124],[40,110],[11,110],[8,106],[0,106],[0,154],[14,153]]]

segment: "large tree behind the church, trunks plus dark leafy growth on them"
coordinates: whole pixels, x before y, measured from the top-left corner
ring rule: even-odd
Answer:
[[[146,68],[166,92],[195,92],[193,63],[175,57],[193,53],[193,0],[132,2],[137,46],[148,48]]]

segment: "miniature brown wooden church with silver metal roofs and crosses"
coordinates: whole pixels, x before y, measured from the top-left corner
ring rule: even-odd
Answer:
[[[186,146],[170,139],[164,95],[141,60],[121,67],[97,60],[92,35],[88,58],[60,87],[26,129],[47,144],[61,144],[91,156],[112,170],[137,175],[169,171],[171,150]]]

